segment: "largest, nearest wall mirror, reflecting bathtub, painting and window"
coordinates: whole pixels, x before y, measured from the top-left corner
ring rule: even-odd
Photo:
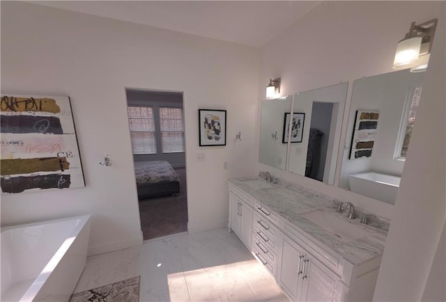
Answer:
[[[394,204],[423,77],[401,70],[355,80],[339,187]]]

